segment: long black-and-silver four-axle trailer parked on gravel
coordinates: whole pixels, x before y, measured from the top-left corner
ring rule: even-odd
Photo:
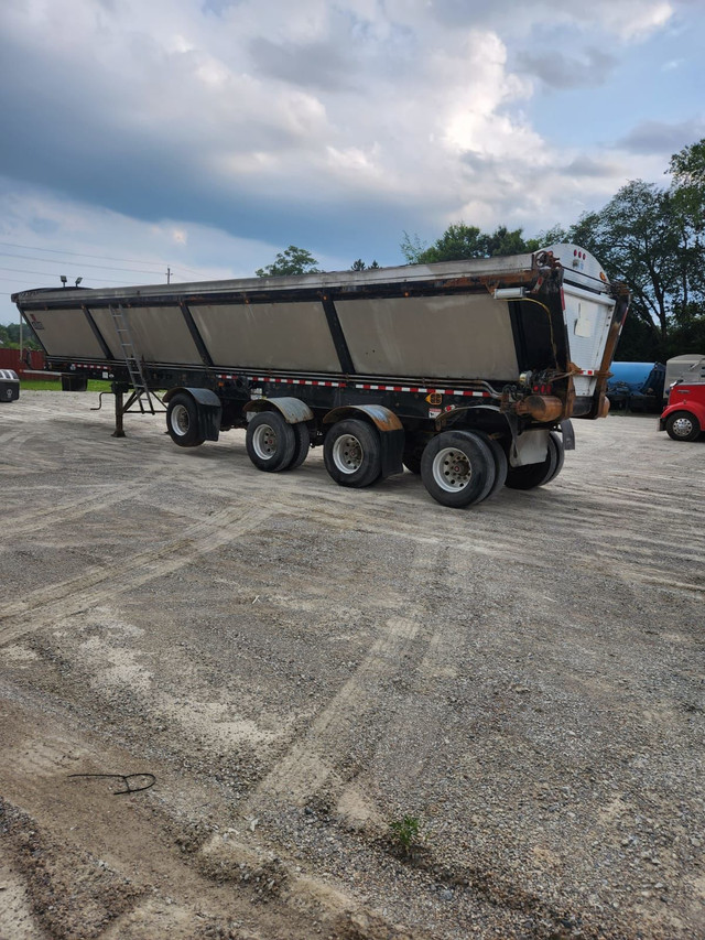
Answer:
[[[118,435],[126,411],[152,410],[152,393],[166,389],[166,428],[182,447],[247,428],[259,469],[292,471],[323,445],[341,486],[406,466],[453,507],[557,475],[570,419],[608,411],[629,302],[574,245],[12,299],[64,387],[111,380]]]

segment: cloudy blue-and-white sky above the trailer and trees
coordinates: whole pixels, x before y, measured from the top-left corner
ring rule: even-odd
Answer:
[[[705,137],[704,48],[704,0],[2,0],[0,322],[568,225]]]

